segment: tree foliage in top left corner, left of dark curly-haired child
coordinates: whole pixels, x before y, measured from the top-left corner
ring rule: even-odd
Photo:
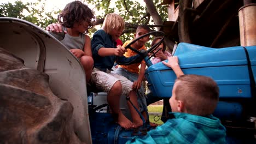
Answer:
[[[2,3],[0,4],[0,16],[15,17],[45,28],[50,23],[57,22],[53,14],[60,13],[60,10],[46,12],[44,7],[45,1],[41,0],[35,3],[22,3],[21,1],[16,1],[14,4]]]

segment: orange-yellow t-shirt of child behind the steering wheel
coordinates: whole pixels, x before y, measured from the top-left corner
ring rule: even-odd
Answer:
[[[132,40],[127,40],[125,41],[123,47],[125,47],[126,45],[128,45],[129,43],[131,43]],[[140,49],[138,50],[147,50],[146,47],[143,45]],[[131,57],[131,56],[134,56],[136,55],[137,53],[132,51],[131,49],[127,49],[127,52],[125,52],[124,56],[125,57]],[[141,63],[145,63],[145,61],[143,60]],[[128,71],[130,71],[131,73],[136,73],[138,74],[139,73],[139,68],[138,66],[141,64],[141,63],[135,63],[135,64],[131,64],[131,65],[119,65],[119,67],[123,68],[123,69],[126,69]]]

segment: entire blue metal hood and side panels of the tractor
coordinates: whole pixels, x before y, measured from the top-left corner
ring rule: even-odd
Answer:
[[[213,49],[181,43],[174,55],[178,55],[184,74],[212,77],[219,86],[220,98],[251,98],[247,58],[243,47]],[[170,98],[176,79],[171,68],[162,63],[154,64],[147,69],[146,76],[155,97]]]

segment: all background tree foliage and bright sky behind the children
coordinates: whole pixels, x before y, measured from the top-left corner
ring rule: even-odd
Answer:
[[[85,1],[82,1],[85,3]],[[152,31],[157,29],[154,25],[161,25],[167,20],[167,8],[161,5],[159,0],[87,0],[88,5],[95,5],[97,21],[95,25],[102,25],[104,17],[109,13],[117,13],[126,22],[125,30],[121,35],[121,40],[131,40],[138,25],[149,25]],[[22,3],[16,1],[14,4],[0,4],[0,16],[16,17],[30,21],[39,27],[45,28],[50,23],[57,22],[56,15],[60,10],[46,12],[45,0],[38,0],[36,3]],[[154,20],[155,19],[155,20]],[[100,26],[98,26],[100,27]],[[92,35],[97,29],[90,29]]]

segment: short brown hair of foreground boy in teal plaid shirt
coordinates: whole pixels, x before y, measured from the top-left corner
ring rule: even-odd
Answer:
[[[183,75],[176,79],[176,99],[182,100],[188,113],[211,115],[219,100],[217,83],[207,76]]]

